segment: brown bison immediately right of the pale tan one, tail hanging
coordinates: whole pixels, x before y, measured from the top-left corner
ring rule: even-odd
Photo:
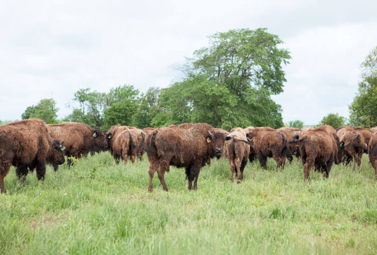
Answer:
[[[247,135],[253,146],[262,169],[266,168],[267,157],[276,161],[276,172],[283,169],[287,155],[287,136],[273,128],[250,128]]]

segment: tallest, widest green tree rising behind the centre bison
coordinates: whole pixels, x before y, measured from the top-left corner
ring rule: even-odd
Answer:
[[[207,122],[229,129],[283,126],[281,106],[270,95],[283,91],[282,65],[289,51],[266,29],[235,29],[210,36],[210,46],[194,51],[186,78],[161,93],[166,123]],[[152,121],[153,122],[153,121]]]

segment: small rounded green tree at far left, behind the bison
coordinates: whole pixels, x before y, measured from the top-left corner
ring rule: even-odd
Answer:
[[[23,120],[38,118],[44,120],[46,124],[56,124],[58,110],[54,99],[42,99],[36,105],[28,106],[21,118]]]

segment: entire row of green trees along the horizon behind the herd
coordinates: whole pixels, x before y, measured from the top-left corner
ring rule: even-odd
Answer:
[[[121,85],[108,92],[75,92],[72,113],[57,119],[54,99],[43,99],[27,107],[23,119],[41,118],[48,124],[82,122],[94,128],[112,125],[158,128],[170,124],[206,122],[217,128],[284,126],[282,107],[271,95],[283,92],[286,81],[283,65],[291,58],[282,41],[266,28],[233,29],[209,37],[209,46],[193,52],[180,66],[181,80],[167,88],[151,87],[141,93],[133,85]],[[334,128],[346,123],[377,126],[377,47],[362,63],[358,94],[350,104],[350,119],[329,114],[321,125]],[[75,105],[75,106],[73,106]],[[285,126],[303,128],[303,122]]]

